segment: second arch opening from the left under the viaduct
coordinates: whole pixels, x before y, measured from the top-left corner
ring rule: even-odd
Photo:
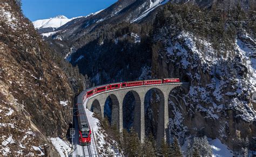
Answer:
[[[107,118],[111,125],[116,125],[119,128],[119,102],[117,96],[111,94],[106,98],[104,117]]]

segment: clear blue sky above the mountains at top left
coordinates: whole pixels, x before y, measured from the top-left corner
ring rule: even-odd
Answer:
[[[31,21],[64,15],[86,16],[102,10],[117,0],[22,0],[22,10]]]

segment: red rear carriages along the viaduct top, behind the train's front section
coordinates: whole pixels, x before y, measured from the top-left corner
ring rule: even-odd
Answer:
[[[177,78],[170,78],[170,79],[157,79],[157,80],[143,80],[143,81],[130,81],[130,82],[119,82],[119,83],[112,83],[112,84],[104,84],[99,85],[97,87],[93,87],[86,90],[86,95],[84,96],[84,100],[87,97],[95,95],[99,92],[119,89],[119,88],[126,88],[126,87],[134,87],[140,85],[151,85],[151,84],[163,84],[163,83],[177,83],[180,82]]]

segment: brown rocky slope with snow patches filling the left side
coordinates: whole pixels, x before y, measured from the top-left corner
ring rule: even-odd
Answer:
[[[16,1],[1,2],[0,21],[0,154],[57,156],[46,137],[68,128],[69,81]]]

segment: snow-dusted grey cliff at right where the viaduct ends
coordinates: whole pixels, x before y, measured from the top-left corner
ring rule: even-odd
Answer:
[[[214,40],[223,38],[204,38],[200,33],[204,32],[205,24],[200,25],[202,31],[199,33],[193,31],[193,25],[189,25],[187,30],[186,23],[190,23],[190,19],[197,20],[196,17],[187,17],[184,13],[183,20],[178,19],[179,11],[188,9],[190,15],[193,15],[192,10],[197,9],[194,6],[186,7],[166,6],[159,14],[166,16],[156,17],[159,20],[156,19],[157,29],[154,29],[152,75],[179,77],[190,82],[189,91],[177,89],[169,96],[169,128],[172,137],[181,137],[182,144],[188,135],[206,134],[213,139],[219,138],[233,151],[241,151],[242,147],[255,150],[256,112],[252,105],[252,95],[256,90],[256,45],[255,34],[250,33],[250,28],[247,29],[250,27],[250,20],[244,23],[247,28],[234,26],[237,32],[233,33],[237,34],[233,34],[233,38],[226,41],[218,41],[222,45],[218,49]],[[232,12],[235,12],[234,10]],[[242,15],[242,12],[239,15]],[[204,12],[205,16],[210,18],[212,25],[219,25],[219,22],[211,20],[214,17],[211,13],[207,15],[207,12]],[[232,23],[239,23],[233,16],[230,15],[227,27]],[[247,16],[250,17],[250,13]],[[204,18],[200,15],[197,17]],[[177,25],[181,26],[180,30],[179,27],[175,28]],[[211,26],[208,28],[212,29]],[[207,31],[204,33],[207,34]],[[229,42],[232,43],[231,49],[228,48]],[[242,141],[243,144],[238,144],[236,140]]]

